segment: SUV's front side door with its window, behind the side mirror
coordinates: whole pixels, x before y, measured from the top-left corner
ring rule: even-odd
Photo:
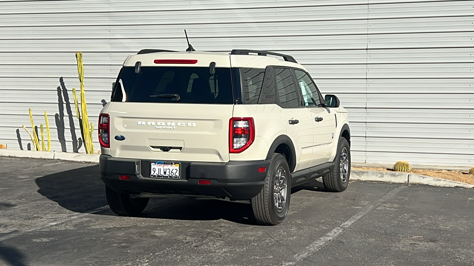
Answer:
[[[332,154],[332,143],[336,131],[335,113],[328,107],[321,105],[321,98],[318,88],[314,84],[310,75],[302,70],[294,70],[298,84],[298,89],[303,97],[303,104],[310,111],[311,127],[314,135],[314,146],[312,148],[313,160],[311,166],[316,166],[328,162]]]

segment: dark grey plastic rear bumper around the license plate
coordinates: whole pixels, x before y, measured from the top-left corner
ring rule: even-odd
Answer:
[[[113,158],[100,155],[100,177],[111,189],[128,193],[222,196],[249,200],[264,186],[270,160],[229,161],[227,163],[181,162],[181,179],[150,178],[150,160]],[[127,175],[130,180],[120,180]],[[210,185],[199,185],[210,180]]]

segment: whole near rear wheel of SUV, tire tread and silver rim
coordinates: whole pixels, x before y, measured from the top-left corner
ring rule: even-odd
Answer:
[[[264,187],[251,200],[255,220],[259,224],[277,225],[285,220],[290,205],[291,187],[288,162],[282,154],[273,153]],[[275,188],[279,190],[276,195],[274,195]]]

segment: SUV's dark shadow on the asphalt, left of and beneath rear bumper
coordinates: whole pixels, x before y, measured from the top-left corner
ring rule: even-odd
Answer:
[[[100,180],[99,166],[71,169],[36,178],[38,193],[77,213],[87,213],[107,205],[105,185]],[[115,215],[110,210],[99,215]],[[250,204],[217,199],[165,197],[151,199],[144,218],[171,220],[219,220],[256,224]]]

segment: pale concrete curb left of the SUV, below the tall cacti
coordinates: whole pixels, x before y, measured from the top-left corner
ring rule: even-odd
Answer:
[[[22,150],[0,150],[0,156],[26,157],[36,159],[56,159],[68,161],[83,161],[99,163],[98,154],[85,154],[62,151],[22,151]]]

